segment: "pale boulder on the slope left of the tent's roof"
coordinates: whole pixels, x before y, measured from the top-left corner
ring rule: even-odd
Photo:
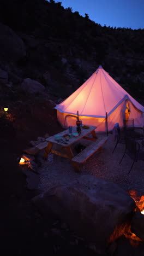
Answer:
[[[45,90],[44,85],[30,78],[24,79],[21,87],[29,94],[35,94],[37,92],[41,93]]]

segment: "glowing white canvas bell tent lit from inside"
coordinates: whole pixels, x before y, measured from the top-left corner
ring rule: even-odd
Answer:
[[[123,127],[125,118],[134,119],[135,127],[144,125],[144,107],[101,66],[79,89],[55,108],[58,121],[63,127],[76,125],[77,110],[82,124],[95,125],[97,131],[106,131],[106,113],[108,131],[116,123]]]

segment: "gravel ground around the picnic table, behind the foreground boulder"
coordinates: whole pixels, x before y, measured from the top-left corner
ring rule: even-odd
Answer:
[[[99,135],[99,139],[100,137],[101,135]],[[80,173],[74,171],[69,159],[51,154],[52,158],[50,155],[49,159],[45,161],[43,160],[43,152],[41,152],[39,155],[39,161],[41,162],[39,167],[39,190],[41,192],[46,191],[53,185],[67,184],[77,179],[81,174],[89,174],[116,183],[125,191],[133,189],[137,191],[139,196],[144,195],[143,161],[135,162],[128,175],[133,160],[125,154],[121,165],[119,165],[125,146],[119,143],[112,154],[114,146],[115,142],[112,141],[112,135],[109,134],[107,143],[80,167]]]

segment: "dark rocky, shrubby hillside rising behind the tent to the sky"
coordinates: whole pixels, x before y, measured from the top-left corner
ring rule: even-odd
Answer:
[[[143,103],[144,30],[101,27],[53,0],[1,0],[0,17],[2,97],[7,86],[15,99],[17,91],[65,98],[102,65]]]

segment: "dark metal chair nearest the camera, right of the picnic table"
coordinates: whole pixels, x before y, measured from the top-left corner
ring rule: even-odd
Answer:
[[[136,142],[134,138],[125,136],[125,150],[124,150],[124,154],[122,156],[121,161],[119,161],[119,165],[121,164],[125,156],[125,153],[127,153],[130,156],[130,158],[133,159],[133,163],[128,172],[129,174],[131,169],[133,168],[135,161],[144,160],[144,150],[140,149],[140,144]]]

